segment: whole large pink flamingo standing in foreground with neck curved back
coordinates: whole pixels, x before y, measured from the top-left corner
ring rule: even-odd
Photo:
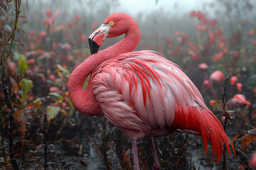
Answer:
[[[120,42],[97,52],[106,38],[124,33]],[[230,140],[222,125],[176,64],[153,51],[132,52],[139,38],[139,26],[131,16],[112,13],[105,19],[89,37],[92,55],[68,79],[73,105],[85,115],[105,116],[132,139],[135,169],[139,169],[139,138],[149,138],[154,169],[159,169],[152,136],[174,131],[201,135],[206,155],[210,140],[213,154],[220,162],[224,145],[230,153]],[[84,90],[82,86],[89,75]],[[231,142],[230,145],[233,148]]]

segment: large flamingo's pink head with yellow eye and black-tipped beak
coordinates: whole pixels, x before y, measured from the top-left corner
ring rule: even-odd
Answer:
[[[88,38],[91,54],[97,53],[106,38],[117,37],[127,33],[134,26],[138,27],[137,22],[126,13],[117,12],[110,14],[102,25]]]

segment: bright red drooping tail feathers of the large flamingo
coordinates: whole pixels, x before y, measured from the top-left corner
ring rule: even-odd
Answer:
[[[184,131],[188,130],[188,132],[189,130],[199,132],[203,140],[206,156],[208,140],[210,140],[213,149],[213,157],[216,153],[218,164],[224,150],[224,145],[228,149],[228,154],[230,155],[230,146],[228,144],[230,143],[235,154],[233,144],[225,134],[223,126],[208,108],[202,108],[202,106],[178,106],[175,113],[174,123],[171,126]]]

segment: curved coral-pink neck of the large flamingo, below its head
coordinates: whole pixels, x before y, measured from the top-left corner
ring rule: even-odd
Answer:
[[[85,79],[105,60],[134,50],[139,42],[139,37],[139,26],[134,26],[127,31],[121,41],[90,55],[73,70],[68,79],[68,93],[73,106],[78,111],[86,115],[103,115],[99,103],[92,94],[92,84],[89,83],[86,90],[82,89]]]

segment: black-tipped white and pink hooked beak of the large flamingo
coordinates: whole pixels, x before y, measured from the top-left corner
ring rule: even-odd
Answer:
[[[95,30],[95,32],[93,32],[89,36],[88,40],[89,40],[91,55],[98,52],[100,46],[102,45],[102,42],[106,40],[108,30],[110,30],[110,26],[106,24],[102,24],[100,28],[97,28],[97,30]]]

